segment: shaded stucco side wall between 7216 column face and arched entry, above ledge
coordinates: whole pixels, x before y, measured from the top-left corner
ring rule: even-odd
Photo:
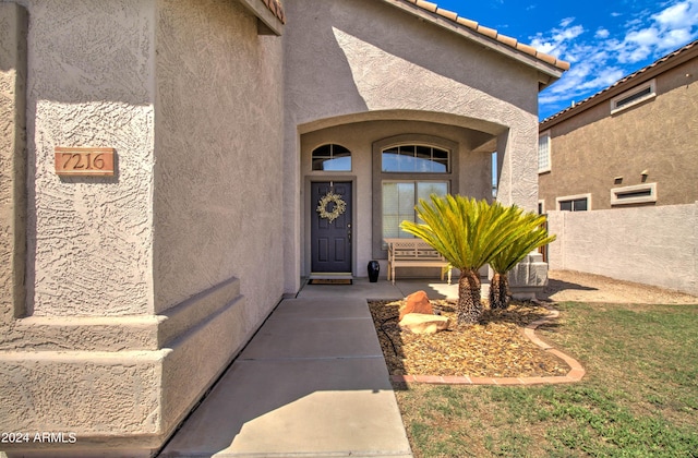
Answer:
[[[281,297],[281,38],[228,0],[158,1],[155,310],[230,277]]]

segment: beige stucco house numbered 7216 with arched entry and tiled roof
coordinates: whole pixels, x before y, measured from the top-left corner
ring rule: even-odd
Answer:
[[[149,455],[304,278],[491,198],[493,152],[534,209],[568,68],[412,0],[4,0],[0,35],[0,431],[77,437],[22,454]]]

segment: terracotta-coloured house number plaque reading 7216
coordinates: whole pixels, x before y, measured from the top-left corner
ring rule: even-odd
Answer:
[[[113,176],[113,148],[56,147],[56,173],[60,176]]]

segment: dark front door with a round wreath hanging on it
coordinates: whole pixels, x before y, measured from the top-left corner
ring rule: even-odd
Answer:
[[[351,182],[311,183],[313,274],[351,274]]]

